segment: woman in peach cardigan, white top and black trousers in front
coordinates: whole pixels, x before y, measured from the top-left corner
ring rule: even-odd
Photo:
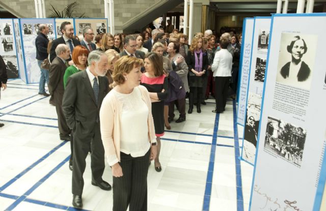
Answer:
[[[156,157],[156,137],[147,89],[140,86],[143,60],[122,57],[116,63],[116,86],[100,110],[105,157],[112,167],[113,210],[147,210],[148,161]]]

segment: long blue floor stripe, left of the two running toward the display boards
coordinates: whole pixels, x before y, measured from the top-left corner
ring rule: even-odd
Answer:
[[[217,144],[217,139],[218,139],[219,120],[220,120],[220,114],[215,114],[214,132],[213,132],[212,146],[211,146],[211,151],[210,151],[210,156],[209,156],[209,164],[208,164],[208,171],[207,171],[207,177],[206,177],[206,187],[205,187],[205,194],[204,194],[203,211],[209,210],[210,195],[211,195],[211,190],[212,190],[212,178],[213,178],[213,172],[214,172],[216,144]]]

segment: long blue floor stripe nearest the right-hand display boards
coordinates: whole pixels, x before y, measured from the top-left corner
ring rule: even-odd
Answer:
[[[242,194],[242,178],[241,178],[241,165],[238,159],[239,153],[239,138],[238,127],[236,124],[236,104],[233,100],[233,132],[234,132],[234,156],[235,156],[235,172],[236,172],[236,199],[237,211],[243,211],[243,194]]]

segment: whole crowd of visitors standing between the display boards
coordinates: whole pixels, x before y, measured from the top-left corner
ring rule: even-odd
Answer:
[[[211,95],[216,102],[212,112],[223,113],[230,82],[231,97],[236,92],[241,42],[233,33],[216,39],[207,30],[188,43],[171,21],[165,29],[149,27],[131,35],[95,36],[86,26],[83,38],[78,38],[67,21],[60,31],[62,37],[49,40],[48,26],[40,24],[35,45],[39,94],[50,96],[60,139],[70,141],[72,204],[83,207],[83,174],[90,152],[94,186],[111,190],[102,178],[104,159],[112,168],[113,210],[147,210],[148,168],[154,161],[154,169],[162,170],[160,137],[165,128],[171,129],[175,108],[175,122],[184,122],[186,98],[187,113],[193,113],[194,105],[201,113]],[[6,80],[2,83],[6,88]]]

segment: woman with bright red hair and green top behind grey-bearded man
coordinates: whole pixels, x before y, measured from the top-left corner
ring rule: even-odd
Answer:
[[[89,51],[86,47],[84,47],[83,45],[77,45],[72,52],[72,61],[73,61],[73,65],[71,65],[70,67],[68,67],[66,69],[66,72],[63,76],[63,85],[66,89],[66,84],[68,81],[68,77],[76,72],[79,71],[84,71],[87,68],[87,57],[88,57]],[[73,133],[71,131],[70,134],[70,150],[71,150],[71,154],[70,154],[70,160],[69,160],[69,169],[72,171],[72,152],[73,152]]]

